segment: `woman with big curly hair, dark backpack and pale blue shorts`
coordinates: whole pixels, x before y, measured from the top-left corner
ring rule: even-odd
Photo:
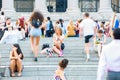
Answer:
[[[38,47],[39,47],[39,41],[40,41],[40,35],[41,35],[41,25],[44,20],[44,17],[42,13],[39,11],[34,11],[29,19],[29,23],[31,26],[30,30],[30,43],[31,43],[31,49],[34,53],[34,61],[38,61]]]

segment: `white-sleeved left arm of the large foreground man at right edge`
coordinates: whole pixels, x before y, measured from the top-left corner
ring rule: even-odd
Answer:
[[[106,64],[106,58],[105,58],[105,49],[103,48],[103,51],[100,56],[100,61],[98,64],[97,80],[104,80],[106,65],[107,64]]]

